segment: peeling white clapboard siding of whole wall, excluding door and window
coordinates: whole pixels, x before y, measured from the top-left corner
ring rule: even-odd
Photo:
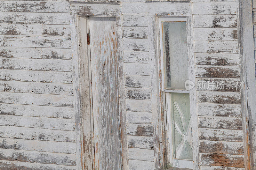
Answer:
[[[144,0],[123,1],[128,164],[149,170],[155,157],[148,11]],[[239,80],[237,3],[191,3],[196,80]],[[0,169],[76,169],[69,6],[0,1]],[[244,169],[240,91],[197,91],[196,100],[201,169]]]

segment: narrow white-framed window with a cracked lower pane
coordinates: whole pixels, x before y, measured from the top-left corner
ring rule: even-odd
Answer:
[[[162,89],[172,167],[193,168],[186,18],[160,17]]]

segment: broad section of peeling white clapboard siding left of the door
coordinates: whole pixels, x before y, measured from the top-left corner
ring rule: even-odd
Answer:
[[[76,169],[69,6],[0,1],[0,169]]]

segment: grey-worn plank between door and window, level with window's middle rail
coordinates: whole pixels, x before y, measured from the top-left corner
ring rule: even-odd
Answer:
[[[1,84],[0,84],[1,85]],[[150,100],[151,89],[126,87],[124,90],[125,99]]]

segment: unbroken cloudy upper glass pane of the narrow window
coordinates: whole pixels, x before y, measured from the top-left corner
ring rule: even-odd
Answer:
[[[186,22],[162,21],[165,89],[185,89],[188,79]]]

